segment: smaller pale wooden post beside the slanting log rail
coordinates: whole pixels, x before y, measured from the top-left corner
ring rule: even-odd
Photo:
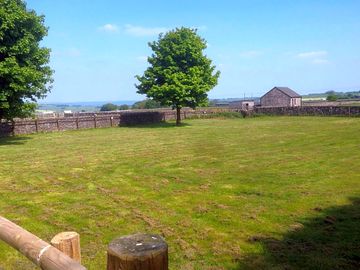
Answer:
[[[50,241],[62,253],[81,263],[80,236],[76,232],[62,232],[54,236]]]

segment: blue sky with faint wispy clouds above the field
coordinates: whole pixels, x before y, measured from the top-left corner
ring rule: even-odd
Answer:
[[[192,27],[221,71],[210,98],[360,90],[358,0],[28,0],[45,15],[54,84],[45,102],[142,100],[148,42]],[[44,101],[43,101],[44,102]]]

